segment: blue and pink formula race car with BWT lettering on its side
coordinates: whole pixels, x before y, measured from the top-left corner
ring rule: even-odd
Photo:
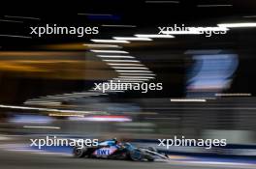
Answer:
[[[168,159],[167,155],[159,154],[154,148],[136,148],[130,143],[117,143],[115,140],[100,142],[96,147],[75,147],[75,157],[130,159],[134,161],[154,161],[155,159]]]

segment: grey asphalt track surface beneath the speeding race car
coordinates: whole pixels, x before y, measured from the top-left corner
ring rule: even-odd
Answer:
[[[34,154],[0,150],[1,169],[223,169],[253,166],[213,165],[170,162],[135,162],[125,160],[74,158],[70,155]]]

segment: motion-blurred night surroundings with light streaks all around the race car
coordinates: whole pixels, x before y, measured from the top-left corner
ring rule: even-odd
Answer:
[[[3,2],[0,166],[253,168],[255,9],[253,0]],[[210,37],[158,35],[158,27],[226,23],[226,34]],[[46,24],[97,26],[99,34],[30,35],[29,27]],[[110,80],[162,83],[163,90],[93,90],[95,83]],[[29,139],[47,135],[117,137],[143,147],[183,135],[227,139],[228,145],[161,148],[172,161],[149,165],[65,158],[70,148],[29,147]]]

